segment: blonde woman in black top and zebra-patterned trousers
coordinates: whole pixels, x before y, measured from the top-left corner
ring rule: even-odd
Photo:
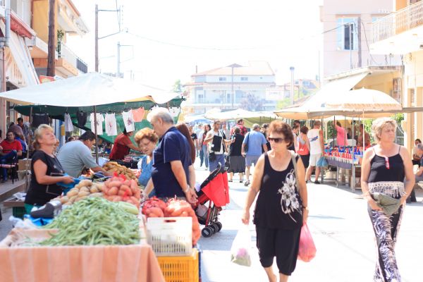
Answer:
[[[378,144],[364,153],[361,183],[378,247],[374,281],[401,281],[394,248],[404,203],[415,176],[407,149],[394,143],[396,122],[391,118],[378,118],[373,122],[372,133]],[[375,193],[396,198],[402,205],[394,214],[385,214],[374,201]]]

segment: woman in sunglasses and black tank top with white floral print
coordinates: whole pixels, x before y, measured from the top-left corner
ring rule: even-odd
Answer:
[[[269,125],[268,139],[271,150],[257,161],[242,220],[249,223],[250,207],[259,193],[253,222],[260,263],[269,281],[276,281],[272,270],[276,256],[280,281],[287,281],[296,266],[300,231],[308,216],[305,168],[296,156],[295,171],[291,151],[287,149],[293,143],[288,124],[273,121]]]

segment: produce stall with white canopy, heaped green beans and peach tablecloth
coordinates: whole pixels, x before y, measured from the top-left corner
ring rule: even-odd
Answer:
[[[24,105],[16,107],[22,114],[70,118],[74,125],[93,127],[106,139],[108,124],[97,114],[141,107],[148,111],[157,104],[180,106],[181,99],[173,99],[176,95],[89,73],[0,97]],[[85,119],[78,116],[81,112]],[[87,121],[87,114],[92,114],[92,121]],[[120,118],[118,132],[128,125],[123,122],[125,114]],[[148,125],[145,120],[131,122],[134,130]],[[114,162],[103,169],[114,176],[75,178],[74,185],[66,185],[62,195],[32,209],[18,223],[20,228],[13,228],[1,241],[0,281],[199,281],[195,244],[200,226],[191,205],[169,200],[160,203],[159,212],[147,202],[142,208],[147,219],[140,212],[143,195],[137,172]]]

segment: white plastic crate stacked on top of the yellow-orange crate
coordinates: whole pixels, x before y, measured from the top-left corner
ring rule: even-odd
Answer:
[[[150,217],[147,242],[158,257],[192,254],[192,218]]]

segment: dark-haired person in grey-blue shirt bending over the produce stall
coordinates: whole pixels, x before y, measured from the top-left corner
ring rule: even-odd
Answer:
[[[104,176],[112,176],[112,173],[96,164],[91,154],[91,147],[95,143],[95,135],[91,131],[86,131],[78,140],[67,142],[61,147],[57,159],[68,175],[79,177],[84,168],[91,168],[94,172],[102,171]]]

